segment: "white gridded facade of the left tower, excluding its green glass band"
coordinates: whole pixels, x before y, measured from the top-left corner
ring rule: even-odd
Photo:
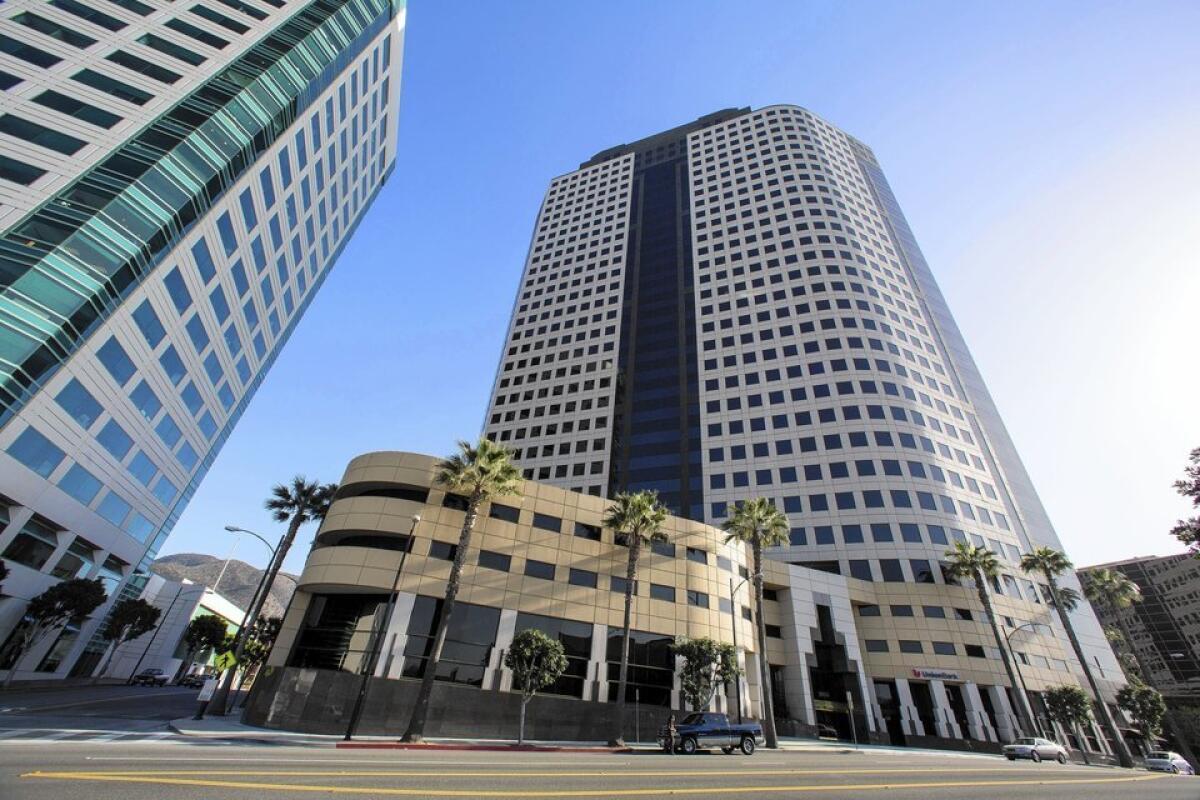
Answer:
[[[59,579],[102,577],[109,602],[138,594],[150,560],[390,174],[404,10],[377,5],[374,32],[342,52],[342,61],[323,54],[329,66],[308,84],[295,118],[72,343],[16,413],[0,416],[0,558],[11,571],[0,643],[25,602]],[[38,68],[26,60],[43,58],[36,53],[0,53],[0,71],[17,80],[0,113],[86,145],[62,157],[0,134],[0,156],[44,170],[26,186],[0,178],[0,236],[310,8],[275,0],[240,10],[166,0],[138,7],[149,11],[104,4],[85,19],[32,0],[4,5],[0,36],[58,60]],[[66,30],[61,36],[74,44],[40,32],[50,28]],[[176,47],[192,55],[172,55]],[[119,66],[109,58],[118,52],[179,77]],[[80,70],[149,100],[85,85]],[[48,108],[48,90],[120,121],[104,128]],[[20,294],[16,284],[0,285],[6,300],[13,293]],[[72,548],[82,560],[65,560]],[[62,678],[77,661],[88,674],[103,652],[92,634],[106,610],[65,632],[70,642],[52,636],[26,654],[17,679]],[[55,648],[66,652],[47,661]],[[80,660],[85,648],[89,657]]]

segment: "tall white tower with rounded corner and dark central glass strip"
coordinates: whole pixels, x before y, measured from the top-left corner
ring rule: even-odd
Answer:
[[[1061,543],[883,172],[800,108],[718,112],[551,181],[485,432],[527,477],[658,489],[712,524],[769,497],[792,525],[775,558],[852,578],[942,584],[954,541],[988,547],[1008,621],[1054,624],[1016,563]],[[1075,624],[1123,680],[1086,603]]]

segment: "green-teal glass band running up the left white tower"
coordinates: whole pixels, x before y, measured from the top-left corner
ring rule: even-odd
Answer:
[[[0,426],[394,13],[314,0],[0,239]]]

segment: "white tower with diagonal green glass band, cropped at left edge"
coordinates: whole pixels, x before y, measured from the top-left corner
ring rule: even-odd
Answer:
[[[403,19],[0,7],[0,646],[55,581],[140,590],[392,168]],[[88,674],[101,616],[0,672]]]

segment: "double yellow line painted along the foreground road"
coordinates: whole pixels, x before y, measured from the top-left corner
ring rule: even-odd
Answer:
[[[311,792],[326,794],[356,794],[356,795],[385,795],[385,796],[444,796],[444,798],[478,798],[479,789],[438,789],[438,788],[412,788],[400,789],[391,787],[344,787],[344,786],[310,786],[302,783],[259,783],[251,781],[206,781],[202,778],[170,778],[164,776],[130,776],[106,772],[26,772],[22,777],[52,778],[64,781],[102,781],[113,783],[150,783],[155,786],[190,786],[221,789],[268,789],[280,792]],[[984,787],[1008,787],[1008,786],[1057,786],[1057,784],[1082,784],[1082,783],[1133,783],[1140,781],[1160,780],[1162,775],[1139,775],[1134,777],[1099,777],[1099,778],[1067,778],[1067,780],[1021,780],[1021,781],[925,781],[918,783],[834,783],[826,786],[716,786],[716,787],[654,787],[643,789],[551,789],[551,790],[502,790],[488,789],[492,798],[629,798],[629,796],[661,796],[664,793],[672,795],[714,794],[714,793],[799,793],[799,792],[881,792],[883,789],[961,789]]]

